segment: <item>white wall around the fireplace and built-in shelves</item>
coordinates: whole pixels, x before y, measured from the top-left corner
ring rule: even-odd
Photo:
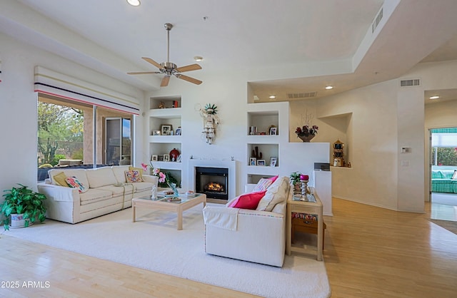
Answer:
[[[191,74],[204,81],[200,86],[171,78],[169,86],[161,88],[160,91],[146,94],[146,97],[158,96],[181,96],[181,177],[183,188],[192,188],[188,185],[188,160],[193,158],[229,160],[233,157],[237,165],[237,190],[239,195],[243,192],[244,185],[248,182],[248,78],[244,73],[217,73],[205,76],[203,72],[195,71]],[[198,111],[199,107],[204,108],[206,103],[218,106],[217,115],[221,119],[219,129],[216,131],[216,138],[213,145],[207,144],[201,139],[203,119]],[[256,104],[254,104],[256,105]],[[149,108],[145,103],[145,108]],[[278,159],[279,168],[268,168],[263,173],[273,175],[289,175],[297,170],[308,173],[313,171],[313,163],[328,163],[328,143],[302,144],[301,140],[294,139],[293,143],[288,142],[288,104],[274,104],[273,110],[278,108],[280,140],[279,150],[281,155]],[[281,118],[286,115],[286,118]],[[149,130],[149,122],[144,122],[144,130]],[[284,129],[287,127],[286,129]],[[290,128],[295,130],[295,128]],[[283,132],[287,133],[283,133]],[[314,141],[313,141],[314,142]],[[255,143],[255,141],[254,141]],[[308,145],[308,146],[307,146]],[[144,140],[144,148],[148,148],[148,140]],[[315,148],[315,149],[312,149]],[[268,155],[268,154],[266,154]],[[150,156],[145,152],[144,162],[147,163]],[[310,181],[313,185],[313,181]]]

